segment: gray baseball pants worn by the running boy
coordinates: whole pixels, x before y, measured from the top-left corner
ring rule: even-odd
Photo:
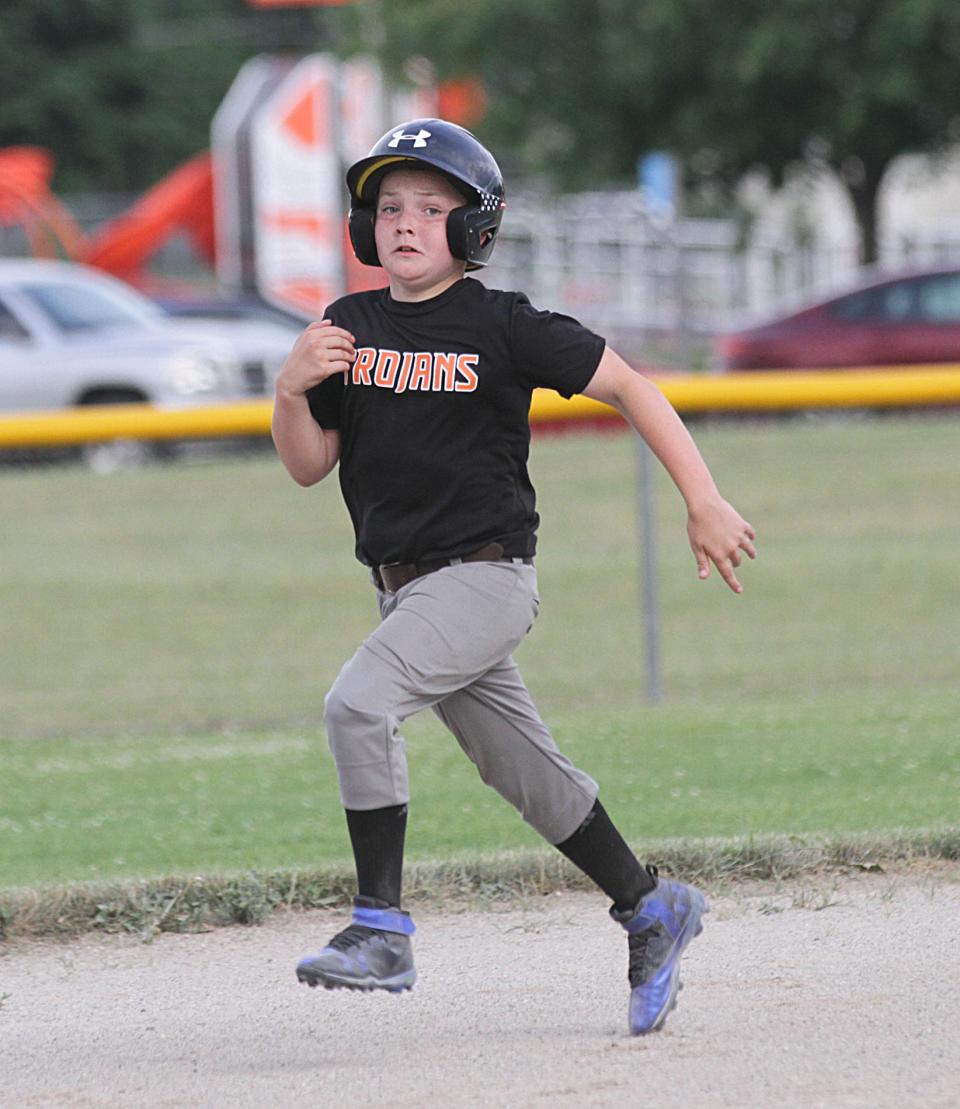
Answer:
[[[548,842],[573,835],[598,785],[560,752],[511,658],[537,618],[534,568],[464,562],[378,597],[382,622],[325,702],[344,807],[409,801],[400,725],[432,709],[480,777]]]

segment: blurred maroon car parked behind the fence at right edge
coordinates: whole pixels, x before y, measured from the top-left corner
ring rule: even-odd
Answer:
[[[724,369],[960,363],[960,269],[889,277],[717,340]]]

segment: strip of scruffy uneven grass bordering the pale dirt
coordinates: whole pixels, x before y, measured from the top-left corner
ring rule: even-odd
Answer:
[[[714,889],[743,881],[788,881],[825,871],[881,871],[960,859],[960,825],[887,833],[665,840],[635,845],[664,872]],[[559,891],[592,888],[566,861],[545,851],[413,863],[407,904],[466,907],[515,903]],[[265,923],[280,909],[348,904],[347,867],[144,881],[90,882],[0,891],[0,940],[129,934],[144,940],[163,932],[206,932]]]

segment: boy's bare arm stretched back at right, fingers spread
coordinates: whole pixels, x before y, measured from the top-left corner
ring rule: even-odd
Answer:
[[[696,444],[660,389],[610,347],[583,390],[584,396],[616,408],[646,440],[680,489],[687,510],[687,536],[696,556],[699,577],[713,562],[735,593],[743,592],[736,568],[741,551],[756,558],[756,532],[719,495]]]

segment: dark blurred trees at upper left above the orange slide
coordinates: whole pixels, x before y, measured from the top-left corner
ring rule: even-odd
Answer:
[[[261,50],[245,0],[0,0],[0,145],[48,147],[61,191],[137,191],[210,144]]]

